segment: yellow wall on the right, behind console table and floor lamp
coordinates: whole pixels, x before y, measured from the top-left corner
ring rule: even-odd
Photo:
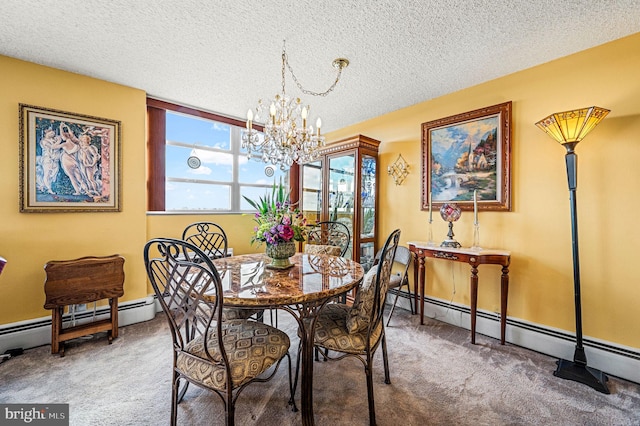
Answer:
[[[508,315],[574,331],[566,151],[534,123],[558,111],[592,105],[611,109],[576,149],[583,332],[638,348],[638,70],[640,34],[635,34],[328,136],[337,140],[360,133],[381,140],[381,170],[402,153],[411,166],[405,183],[396,186],[381,176],[380,235],[400,228],[402,242],[426,241],[428,214],[420,210],[421,123],[513,101],[513,211],[480,212],[480,243],[512,252]],[[463,213],[454,227],[456,239],[466,246],[472,243],[472,216]],[[434,239],[443,240],[446,232],[445,222],[434,218]],[[469,303],[467,266],[427,263],[428,295]],[[499,310],[499,275],[499,267],[480,267],[480,309]]]

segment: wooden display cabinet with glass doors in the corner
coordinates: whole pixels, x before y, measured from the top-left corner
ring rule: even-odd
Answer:
[[[378,146],[357,135],[329,144],[318,160],[291,167],[293,200],[310,223],[342,222],[351,232],[345,257],[368,270],[376,253]]]

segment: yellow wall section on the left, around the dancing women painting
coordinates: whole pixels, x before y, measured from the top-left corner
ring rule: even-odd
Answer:
[[[8,260],[0,324],[50,315],[43,308],[49,260],[119,253],[126,259],[121,300],[146,297],[145,92],[3,56],[0,75],[0,256]],[[19,103],[121,122],[122,212],[19,212]]]

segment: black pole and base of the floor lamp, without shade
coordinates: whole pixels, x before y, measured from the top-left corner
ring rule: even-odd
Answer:
[[[563,144],[567,149],[565,162],[567,165],[567,181],[569,183],[569,202],[571,203],[571,243],[573,251],[573,290],[575,298],[576,317],[576,349],[573,362],[565,359],[558,360],[558,368],[554,376],[573,380],[591,386],[598,392],[609,393],[606,385],[607,376],[600,370],[587,367],[587,356],[582,346],[582,303],[580,297],[580,258],[578,251],[578,216],[576,214],[576,188],[578,181],[578,156],[575,147],[578,142]]]

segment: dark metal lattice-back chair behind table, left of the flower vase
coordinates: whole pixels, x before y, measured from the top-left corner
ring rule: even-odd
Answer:
[[[182,231],[182,240],[193,244],[198,247],[207,258],[219,259],[229,256],[229,245],[227,240],[227,234],[224,229],[213,222],[195,222]],[[189,257],[195,262],[199,262],[199,259],[194,253],[185,249],[184,255]],[[225,307],[223,309],[222,317],[227,319],[245,319],[253,316],[258,320],[262,320],[264,311],[262,309],[242,309]]]

